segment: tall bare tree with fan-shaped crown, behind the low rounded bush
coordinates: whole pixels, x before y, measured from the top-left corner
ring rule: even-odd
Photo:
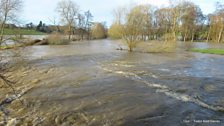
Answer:
[[[68,26],[69,40],[71,40],[71,35],[79,12],[79,6],[72,0],[62,0],[58,2],[56,10],[61,16],[62,22]]]

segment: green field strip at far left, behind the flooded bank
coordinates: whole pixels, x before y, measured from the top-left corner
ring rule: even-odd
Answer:
[[[46,33],[38,32],[36,30],[28,30],[28,29],[8,29],[4,30],[4,35],[45,35]]]

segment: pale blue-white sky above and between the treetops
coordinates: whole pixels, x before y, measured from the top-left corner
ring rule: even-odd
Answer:
[[[57,17],[55,8],[60,0],[24,0],[24,9],[21,19],[24,23],[38,24],[43,21],[50,23],[49,19]],[[73,0],[80,6],[82,12],[90,10],[94,21],[106,21],[110,25],[113,20],[113,9],[118,6],[130,4],[152,4],[158,7],[166,6],[169,0]],[[217,0],[192,0],[199,5],[204,14],[212,13]]]

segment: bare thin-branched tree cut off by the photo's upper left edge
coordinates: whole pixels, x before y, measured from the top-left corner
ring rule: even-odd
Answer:
[[[3,40],[6,23],[16,20],[18,12],[22,7],[22,0],[0,1],[0,41]]]

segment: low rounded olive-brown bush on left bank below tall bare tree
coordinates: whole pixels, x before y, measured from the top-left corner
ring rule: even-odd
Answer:
[[[46,38],[49,45],[66,45],[69,40],[65,39],[63,35],[59,33],[52,33]]]

